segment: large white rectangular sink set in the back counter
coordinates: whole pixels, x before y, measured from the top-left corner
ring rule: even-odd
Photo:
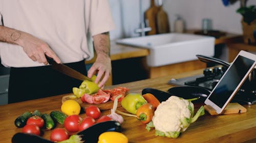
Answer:
[[[163,65],[197,60],[196,54],[214,55],[215,38],[209,36],[169,33],[117,40],[118,44],[150,49],[147,65]]]

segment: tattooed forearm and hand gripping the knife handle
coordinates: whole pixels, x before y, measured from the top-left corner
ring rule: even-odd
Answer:
[[[58,56],[48,44],[31,34],[0,25],[0,41],[23,47],[29,58],[38,63],[48,64],[45,54],[60,63]]]

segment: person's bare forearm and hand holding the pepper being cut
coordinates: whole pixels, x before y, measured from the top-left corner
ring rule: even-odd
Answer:
[[[102,88],[111,74],[109,32],[95,35],[93,36],[93,40],[97,58],[88,71],[88,77],[91,78],[93,74],[97,73],[95,83],[98,83],[102,79],[99,83],[99,87]]]

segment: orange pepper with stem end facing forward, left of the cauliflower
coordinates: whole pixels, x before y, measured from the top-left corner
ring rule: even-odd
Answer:
[[[149,123],[154,116],[154,107],[151,103],[146,103],[140,106],[137,110],[137,119],[141,121],[141,123]]]

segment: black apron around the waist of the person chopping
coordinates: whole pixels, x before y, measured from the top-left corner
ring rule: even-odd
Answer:
[[[65,64],[87,75],[84,60]],[[11,68],[8,103],[44,98],[72,93],[73,87],[79,87],[81,80],[62,74],[51,66]]]

